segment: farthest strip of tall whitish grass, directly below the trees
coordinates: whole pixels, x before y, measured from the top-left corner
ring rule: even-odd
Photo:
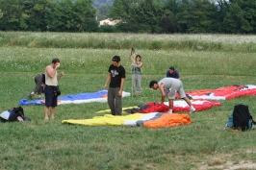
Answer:
[[[255,52],[256,36],[0,32],[0,46]]]

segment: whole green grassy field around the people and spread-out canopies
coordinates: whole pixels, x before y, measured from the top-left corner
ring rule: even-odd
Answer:
[[[36,36],[35,36],[36,35]],[[20,37],[40,39],[40,44],[53,44],[59,37],[72,37],[70,46],[32,45]],[[42,37],[45,38],[45,42]],[[130,47],[134,45],[141,55],[141,97],[123,98],[123,107],[158,102],[159,91],[149,89],[151,80],[165,77],[169,66],[176,67],[186,91],[216,89],[227,85],[255,85],[255,41],[250,36],[176,35],[184,48],[150,49],[133,44],[132,40],[116,41],[121,48],[75,48],[82,44],[83,34],[0,33],[0,112],[17,107],[34,88],[34,76],[42,73],[53,58],[61,60],[64,77],[59,84],[62,95],[94,92],[103,89],[108,66],[115,55],[121,57],[127,78],[124,90],[131,92]],[[156,41],[167,44],[166,36],[146,35],[87,35],[93,44],[104,39],[133,39],[136,36],[146,44]],[[17,37],[20,43],[10,43]],[[149,38],[150,37],[150,38]],[[173,37],[173,36],[172,36]],[[192,48],[183,39],[197,39],[206,48],[207,38],[220,49],[211,46],[206,50]],[[255,37],[255,36],[252,36]],[[76,41],[76,38],[78,39]],[[2,41],[1,41],[2,39]],[[68,38],[67,38],[68,39]],[[255,39],[255,38],[254,38]],[[33,40],[32,40],[33,41]],[[85,39],[88,41],[88,39]],[[139,40],[135,40],[139,42]],[[193,41],[193,40],[192,40]],[[34,44],[37,40],[34,40]],[[112,41],[114,43],[114,41]],[[64,43],[64,42],[63,42]],[[30,44],[30,45],[29,45]],[[62,44],[62,43],[60,43]],[[250,46],[252,50],[246,49]],[[116,44],[112,44],[115,46]],[[124,48],[127,46],[127,48]],[[2,123],[0,169],[90,169],[90,170],[172,170],[172,169],[256,169],[255,128],[249,132],[231,133],[224,125],[236,104],[249,106],[256,117],[256,96],[220,101],[221,107],[198,111],[190,116],[192,124],[174,128],[151,130],[143,127],[79,126],[62,124],[66,119],[88,119],[107,103],[62,105],[56,109],[55,120],[43,120],[42,106],[23,107],[31,122]]]

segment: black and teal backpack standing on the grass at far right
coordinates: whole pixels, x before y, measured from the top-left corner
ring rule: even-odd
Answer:
[[[243,104],[236,105],[233,109],[232,114],[230,115],[228,122],[226,124],[227,128],[233,130],[251,130],[252,125],[255,125],[256,122],[253,120],[248,106]]]

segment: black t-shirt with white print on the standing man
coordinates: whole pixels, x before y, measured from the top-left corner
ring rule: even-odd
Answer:
[[[122,65],[116,67],[113,64],[109,67],[109,72],[111,73],[111,83],[110,87],[120,87],[121,79],[125,78],[125,69]]]

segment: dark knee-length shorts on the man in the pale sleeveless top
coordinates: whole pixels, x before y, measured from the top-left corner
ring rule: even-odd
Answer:
[[[58,96],[54,95],[56,86],[45,85],[44,87],[44,96],[45,96],[45,106],[46,107],[57,107]]]

